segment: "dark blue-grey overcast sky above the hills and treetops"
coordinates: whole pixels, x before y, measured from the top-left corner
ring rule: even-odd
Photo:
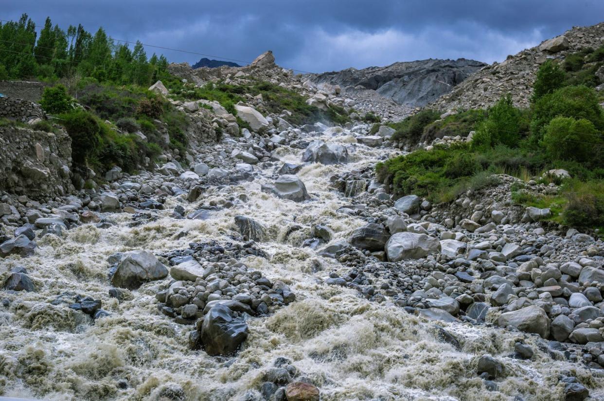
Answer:
[[[311,72],[423,58],[492,63],[604,20],[604,0],[2,0],[1,19],[50,16],[66,29],[103,27],[141,40],[249,62],[271,49],[277,63]],[[201,55],[163,52],[170,62]],[[211,57],[212,58],[212,57]],[[214,57],[216,58],[216,57]]]

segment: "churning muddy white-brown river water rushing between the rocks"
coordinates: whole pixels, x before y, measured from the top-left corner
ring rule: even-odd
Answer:
[[[336,233],[333,241],[365,224],[336,212],[350,200],[330,188],[330,176],[387,156],[384,150],[356,144],[351,133],[324,134],[322,139],[352,145],[356,151],[345,165],[312,164],[298,173],[313,200],[295,203],[261,192],[260,185],[274,179],[270,168],[259,171],[253,182],[214,188],[194,204],[170,198],[152,223],[128,227],[132,216],[115,213],[109,217],[117,224],[108,229],[87,224],[65,232],[63,238],[45,236],[34,256],[3,260],[8,268],[27,268],[39,290],[8,294],[11,312],[0,309],[3,395],[154,400],[182,388],[187,400],[254,399],[263,373],[279,356],[291,359],[313,380],[322,400],[513,400],[517,395],[556,400],[564,399],[564,387],[557,381],[564,370],[576,371],[580,382],[598,387],[579,365],[553,361],[538,347],[533,361],[510,358],[518,333],[422,320],[390,303],[370,302],[354,289],[319,280],[349,268],[300,247],[311,224],[331,227]],[[284,147],[277,156],[300,162],[301,151]],[[240,201],[241,194],[248,199]],[[207,220],[170,218],[178,204],[191,212],[229,198],[236,200],[235,206],[212,212]],[[132,299],[121,303],[109,297],[111,254],[134,249],[158,254],[187,248],[190,242],[232,241],[228,236],[237,230],[236,215],[256,219],[268,232],[259,244],[268,259],[248,257],[245,264],[271,280],[283,280],[297,295],[294,303],[275,314],[248,321],[249,337],[237,356],[215,358],[188,349],[191,326],[174,323],[157,308],[155,294],[168,279],[132,291]],[[294,222],[304,229],[284,242],[284,233]],[[78,321],[79,315],[65,305],[50,304],[63,292],[101,299],[111,315],[94,324]],[[455,333],[460,350],[439,340],[435,323]],[[507,377],[498,381],[498,391],[487,390],[475,373],[484,353],[497,355],[504,363]],[[118,388],[123,379],[128,387]],[[591,395],[604,397],[598,390]]]

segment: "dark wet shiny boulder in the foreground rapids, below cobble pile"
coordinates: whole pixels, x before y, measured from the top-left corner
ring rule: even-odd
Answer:
[[[227,306],[217,304],[204,316],[199,339],[208,355],[233,355],[248,338],[248,325]]]

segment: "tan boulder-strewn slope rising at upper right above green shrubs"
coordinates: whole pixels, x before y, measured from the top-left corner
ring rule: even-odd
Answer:
[[[574,27],[561,36],[545,40],[539,46],[508,56],[502,63],[493,63],[469,77],[431,107],[439,110],[477,109],[495,104],[506,93],[512,94],[517,107],[527,107],[539,65],[548,58],[564,60],[580,49],[602,46],[604,23],[591,27]]]

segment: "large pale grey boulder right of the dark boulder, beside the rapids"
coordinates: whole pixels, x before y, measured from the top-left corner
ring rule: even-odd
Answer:
[[[420,257],[440,252],[440,241],[426,234],[396,233],[388,239],[385,251],[390,262],[420,259]]]

